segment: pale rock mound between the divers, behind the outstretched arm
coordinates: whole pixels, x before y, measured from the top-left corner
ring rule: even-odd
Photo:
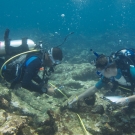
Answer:
[[[71,96],[76,92],[80,93],[94,85],[95,81],[93,79],[97,79],[95,68],[89,63],[58,65],[55,68],[55,74],[50,77],[51,83],[58,88],[64,86],[61,90],[67,96]],[[61,93],[59,94],[61,96]]]

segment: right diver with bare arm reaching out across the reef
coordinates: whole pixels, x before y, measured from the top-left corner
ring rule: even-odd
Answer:
[[[92,50],[91,50],[92,51]],[[134,49],[122,49],[111,56],[104,54],[97,54],[93,51],[97,57],[95,60],[95,66],[97,73],[100,75],[100,80],[88,88],[85,92],[79,96],[71,96],[66,105],[72,108],[72,105],[80,99],[85,99],[88,96],[95,94],[106,84],[110,82],[113,84],[112,90],[123,88],[130,90],[133,94],[135,89],[135,50]],[[135,101],[135,95],[124,97],[117,100],[116,104],[128,105],[130,102]],[[65,104],[64,104],[65,105]]]

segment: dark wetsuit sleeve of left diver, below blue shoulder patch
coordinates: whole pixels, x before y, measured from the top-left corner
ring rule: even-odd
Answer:
[[[32,82],[32,80],[37,76],[39,68],[41,67],[41,61],[39,58],[33,60],[25,69],[24,76],[22,79],[22,87],[30,91],[36,91],[41,93],[40,85]],[[39,80],[38,80],[39,81]]]

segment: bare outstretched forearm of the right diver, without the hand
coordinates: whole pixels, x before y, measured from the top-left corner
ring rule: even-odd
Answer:
[[[78,99],[82,99],[82,98],[85,98],[87,96],[91,96],[91,95],[95,94],[97,90],[98,89],[95,86],[90,87],[88,90],[86,90],[85,92],[83,92],[82,94],[80,94],[78,96]]]

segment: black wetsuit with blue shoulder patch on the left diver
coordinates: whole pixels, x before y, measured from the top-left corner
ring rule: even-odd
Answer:
[[[21,83],[21,87],[25,89],[41,94],[44,93],[42,91],[43,80],[38,76],[38,71],[41,67],[42,59],[40,57],[29,57],[24,63],[20,79],[12,81],[10,88],[14,89],[16,84]]]

